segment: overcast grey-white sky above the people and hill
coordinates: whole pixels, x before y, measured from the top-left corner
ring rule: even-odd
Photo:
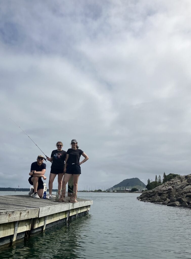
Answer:
[[[42,154],[9,118],[47,156],[78,141],[79,190],[189,174],[190,13],[190,0],[1,1],[0,187],[29,188]]]

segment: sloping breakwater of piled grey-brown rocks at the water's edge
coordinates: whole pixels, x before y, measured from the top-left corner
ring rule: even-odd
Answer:
[[[191,174],[178,176],[153,190],[145,191],[137,199],[142,202],[191,208]]]

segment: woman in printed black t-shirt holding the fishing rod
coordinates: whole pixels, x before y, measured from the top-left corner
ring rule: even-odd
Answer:
[[[58,141],[56,143],[56,147],[57,149],[52,151],[51,158],[47,157],[47,160],[52,162],[49,182],[48,182],[49,199],[52,198],[52,187],[53,187],[53,182],[56,175],[58,175],[59,196],[61,195],[61,190],[62,190],[62,178],[64,173],[66,151],[62,150],[63,144],[61,141]]]

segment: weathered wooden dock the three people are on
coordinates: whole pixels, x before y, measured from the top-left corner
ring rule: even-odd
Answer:
[[[28,195],[0,196],[0,246],[28,239],[31,234],[86,215],[93,200],[77,198],[77,203],[55,202],[55,198],[34,199]]]

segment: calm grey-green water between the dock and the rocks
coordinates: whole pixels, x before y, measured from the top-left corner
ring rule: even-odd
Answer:
[[[89,215],[1,248],[0,259],[191,258],[191,210],[139,202],[136,193],[78,196],[94,200]]]

